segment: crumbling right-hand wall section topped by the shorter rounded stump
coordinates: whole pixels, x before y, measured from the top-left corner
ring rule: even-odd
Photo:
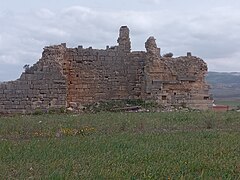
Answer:
[[[188,53],[178,58],[161,57],[155,39],[145,44],[146,97],[163,106],[185,106],[208,109],[211,99],[205,81],[206,63]]]

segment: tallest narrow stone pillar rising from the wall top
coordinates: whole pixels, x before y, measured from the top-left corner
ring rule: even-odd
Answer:
[[[123,50],[125,52],[131,51],[131,41],[129,38],[129,29],[127,26],[121,26],[117,42],[119,44],[120,50]]]

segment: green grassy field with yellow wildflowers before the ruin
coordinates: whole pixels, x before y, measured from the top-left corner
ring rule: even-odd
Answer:
[[[240,113],[0,117],[0,179],[240,179]]]

